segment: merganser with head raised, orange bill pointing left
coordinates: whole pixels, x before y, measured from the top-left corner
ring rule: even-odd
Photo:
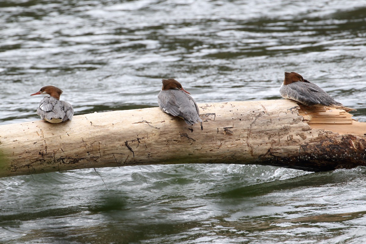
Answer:
[[[31,94],[40,95],[49,94],[45,96],[40,102],[37,109],[37,115],[50,123],[60,123],[66,120],[71,120],[74,116],[74,109],[68,102],[60,101],[62,91],[55,86],[44,86],[38,92]]]

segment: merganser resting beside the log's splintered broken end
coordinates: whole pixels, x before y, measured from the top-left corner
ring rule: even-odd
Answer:
[[[285,72],[285,79],[280,88],[280,94],[283,98],[298,101],[307,106],[325,105],[325,106],[343,106],[340,102],[334,100],[323,89],[302,78],[295,72]]]

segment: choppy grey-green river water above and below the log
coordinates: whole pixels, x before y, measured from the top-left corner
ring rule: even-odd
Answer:
[[[4,0],[0,124],[37,120],[45,85],[77,115],[157,106],[161,78],[198,103],[275,99],[284,71],[365,121],[365,44],[362,0]],[[0,179],[0,243],[366,241],[363,167],[97,171]]]

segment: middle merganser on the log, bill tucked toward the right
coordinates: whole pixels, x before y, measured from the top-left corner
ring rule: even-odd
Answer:
[[[163,87],[158,94],[161,110],[184,119],[189,125],[202,122],[198,106],[190,93],[175,79],[162,79],[162,81]]]

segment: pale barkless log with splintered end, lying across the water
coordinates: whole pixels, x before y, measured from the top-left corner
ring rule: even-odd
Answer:
[[[201,124],[159,108],[0,125],[0,177],[150,164],[259,164],[309,171],[366,165],[366,123],[292,100],[199,104]]]

